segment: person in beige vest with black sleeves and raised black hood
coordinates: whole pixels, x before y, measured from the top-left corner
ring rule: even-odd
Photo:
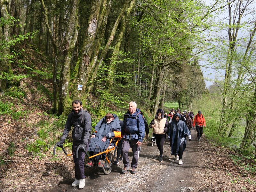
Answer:
[[[150,123],[150,128],[153,128],[153,135],[156,137],[156,145],[160,151],[159,161],[162,162],[164,152],[164,140],[168,131],[168,120],[164,118],[164,110],[157,109],[155,118]]]

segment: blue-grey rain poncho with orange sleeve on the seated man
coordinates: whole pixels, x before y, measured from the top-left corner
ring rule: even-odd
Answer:
[[[94,138],[91,138],[88,151],[102,152],[105,151],[110,142],[111,137],[121,137],[121,126],[119,118],[112,114],[114,119],[107,124],[106,117],[103,117],[95,126]],[[106,136],[107,140],[102,142],[102,138]]]

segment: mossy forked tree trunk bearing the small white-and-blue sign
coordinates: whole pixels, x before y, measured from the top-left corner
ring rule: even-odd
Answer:
[[[112,1],[108,1],[107,5],[110,8]],[[88,28],[87,28],[87,36],[84,39],[82,52],[78,58],[78,72],[77,72],[77,78],[73,85],[73,91],[72,91],[72,98],[79,98],[81,100],[84,100],[88,97],[92,86],[93,81],[96,77],[98,67],[100,66],[103,59],[105,59],[106,53],[109,49],[110,44],[112,43],[118,24],[120,23],[121,19],[124,16],[124,12],[128,9],[130,3],[132,0],[127,0],[124,3],[123,9],[119,13],[116,22],[112,28],[112,31],[110,33],[110,36],[108,38],[108,42],[106,43],[104,49],[102,50],[100,57],[98,57],[100,44],[104,38],[105,33],[105,27],[107,24],[107,16],[109,13],[109,8],[106,10],[106,8],[99,8],[100,2],[94,1],[92,6],[92,12],[91,16],[89,18],[88,22]],[[103,6],[106,6],[105,4]],[[102,16],[99,17],[99,15],[104,15],[104,20],[101,23],[101,26],[98,26],[98,18],[102,18]],[[96,31],[99,29],[99,33],[97,36],[95,36]],[[83,85],[82,90],[77,90],[78,84]]]

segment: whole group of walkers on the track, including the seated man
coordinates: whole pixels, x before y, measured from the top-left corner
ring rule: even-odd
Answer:
[[[148,123],[143,116],[143,113],[137,108],[137,104],[134,101],[129,103],[129,109],[124,114],[123,121],[119,120],[116,114],[108,113],[104,116],[95,126],[95,132],[92,133],[92,120],[91,116],[83,109],[82,102],[80,100],[74,100],[72,102],[72,111],[68,115],[63,135],[57,146],[62,147],[65,139],[68,136],[71,126],[72,131],[72,154],[75,164],[75,181],[72,183],[73,187],[84,188],[85,175],[84,175],[84,158],[85,153],[90,156],[98,154],[109,146],[114,144],[110,143],[110,139],[113,137],[120,138],[117,157],[113,164],[119,164],[119,161],[123,160],[124,168],[121,173],[125,174],[131,167],[131,173],[136,174],[136,168],[138,166],[138,158],[140,153],[141,144],[143,139],[148,136],[149,128]],[[203,134],[203,127],[205,127],[205,119],[201,111],[198,111],[194,118],[193,112],[181,112],[180,109],[175,111],[174,109],[167,115],[162,109],[156,111],[156,115],[150,122],[149,127],[153,129],[153,136],[156,139],[156,145],[159,149],[159,162],[163,161],[164,141],[166,135],[170,141],[171,154],[175,156],[176,160],[179,160],[178,164],[182,165],[182,156],[186,148],[187,137],[191,140],[190,129],[196,126],[197,139]],[[78,151],[78,158],[76,157],[76,149],[81,148]],[[130,162],[128,151],[132,148],[132,161]],[[95,156],[86,164],[86,166],[103,167],[104,154]]]

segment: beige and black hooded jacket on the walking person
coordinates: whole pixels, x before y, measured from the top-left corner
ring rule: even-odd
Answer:
[[[158,112],[162,113],[162,116],[158,116]],[[164,110],[163,109],[158,109],[156,111],[155,118],[151,121],[150,123],[150,128],[152,128],[151,125],[155,125],[155,128],[153,128],[153,133],[155,134],[164,134],[168,131],[169,123],[168,120],[164,117]]]

